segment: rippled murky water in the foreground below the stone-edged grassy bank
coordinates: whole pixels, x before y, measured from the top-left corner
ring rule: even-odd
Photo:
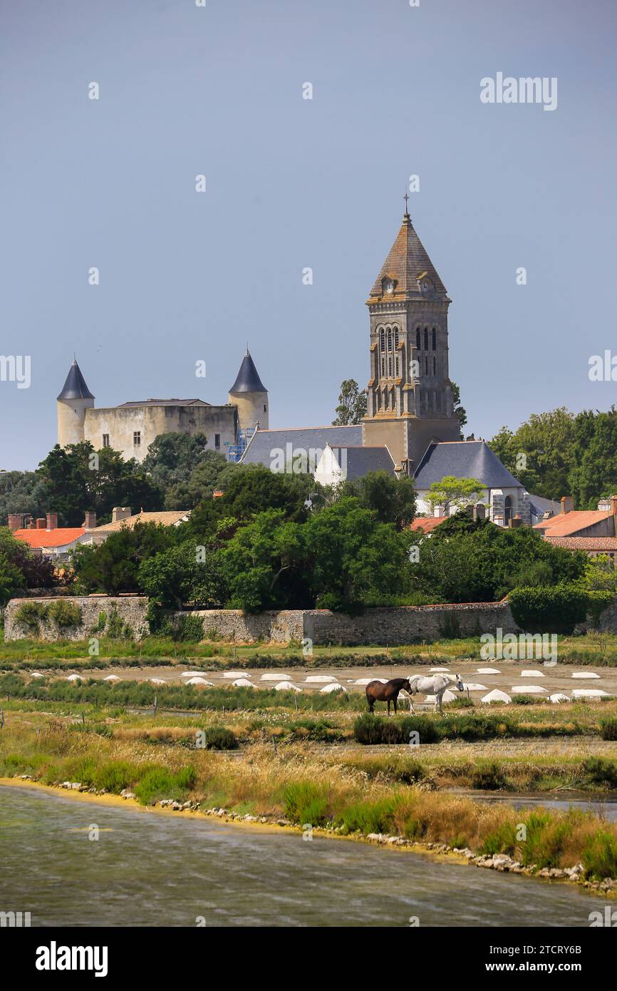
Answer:
[[[586,927],[597,907],[421,854],[0,787],[0,911],[33,926]]]

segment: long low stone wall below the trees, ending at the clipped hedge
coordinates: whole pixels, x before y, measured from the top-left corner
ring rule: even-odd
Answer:
[[[176,613],[177,616],[182,613]],[[206,636],[252,643],[256,640],[287,643],[310,639],[315,645],[412,644],[443,636],[473,636],[519,631],[510,606],[501,603],[469,603],[462,606],[406,606],[370,608],[360,616],[329,609],[285,609],[249,615],[240,609],[197,609]]]

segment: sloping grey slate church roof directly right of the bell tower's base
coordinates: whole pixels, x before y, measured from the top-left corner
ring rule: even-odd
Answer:
[[[443,441],[430,444],[415,473],[416,490],[430,489],[447,475],[479,479],[485,489],[522,489],[483,440]]]

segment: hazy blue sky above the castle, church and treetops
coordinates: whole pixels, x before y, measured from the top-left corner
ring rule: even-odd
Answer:
[[[0,351],[32,385],[0,382],[0,468],[55,443],[73,351],[97,405],[220,403],[249,341],[270,425],[329,423],[410,174],[468,429],[608,408],[616,29],[612,0],[3,5]],[[557,109],[482,104],[498,71]]]

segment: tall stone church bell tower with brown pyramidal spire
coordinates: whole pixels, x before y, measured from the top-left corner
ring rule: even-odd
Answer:
[[[370,378],[363,444],[385,444],[411,474],[433,440],[460,440],[448,369],[446,286],[409,213],[366,300]]]

